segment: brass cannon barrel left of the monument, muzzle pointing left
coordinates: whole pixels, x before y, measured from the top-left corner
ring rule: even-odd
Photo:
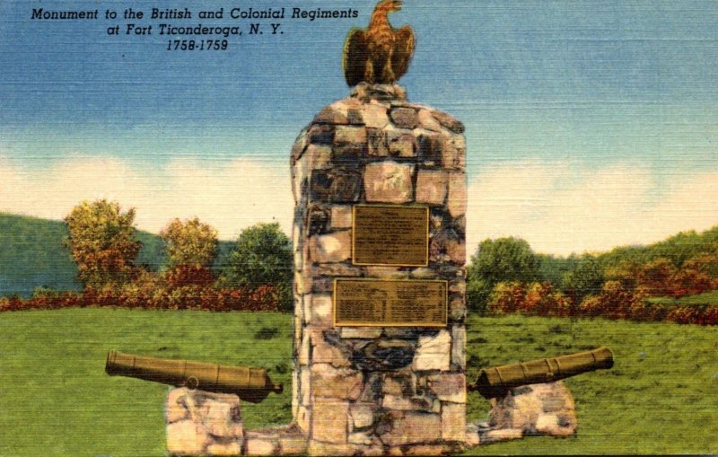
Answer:
[[[267,370],[262,368],[134,356],[116,351],[109,351],[105,373],[176,387],[236,393],[242,400],[252,403],[266,399],[269,392],[283,391],[283,385],[271,382]]]

